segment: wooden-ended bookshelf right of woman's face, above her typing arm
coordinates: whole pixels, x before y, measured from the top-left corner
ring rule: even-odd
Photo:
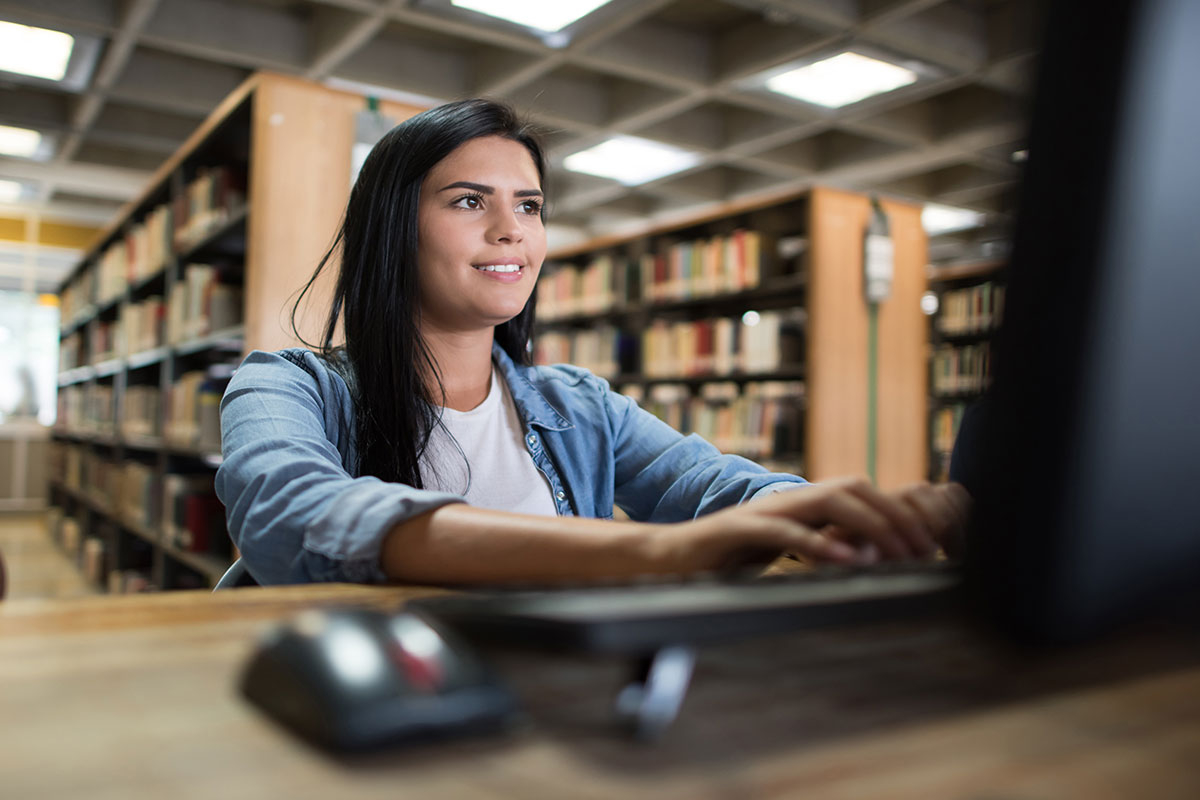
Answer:
[[[884,200],[883,207],[895,245],[895,282],[892,297],[880,309],[878,320],[876,476],[880,486],[896,487],[920,480],[928,471],[928,339],[919,308],[926,285],[926,240],[918,206]],[[607,272],[608,265],[604,266],[604,275],[623,277],[614,278],[616,289],[601,285],[600,294],[605,297],[601,308],[575,309],[569,299],[564,303],[556,294],[551,303],[554,314],[539,323],[536,339],[542,342],[545,337],[552,347],[540,353],[544,356],[552,353],[565,356],[575,349],[592,351],[598,347],[595,337],[599,336],[602,356],[598,363],[599,372],[618,389],[648,407],[655,404],[660,411],[664,404],[652,402],[652,396],[661,384],[686,389],[690,395],[680,392],[678,402],[692,405],[709,385],[766,384],[768,397],[787,404],[787,419],[794,419],[799,411],[802,431],[794,437],[785,432],[787,435],[782,439],[799,441],[800,451],[758,452],[756,457],[803,464],[805,476],[812,480],[865,475],[868,311],[863,300],[862,270],[863,233],[869,211],[870,200],[864,196],[814,188],[725,204],[690,217],[658,222],[622,236],[605,236],[552,252],[544,272],[551,278],[544,287],[556,285],[556,269],[568,269],[580,272],[576,285],[592,281],[589,287],[594,289],[594,275],[588,271],[598,259],[611,259],[613,264],[611,272]],[[647,296],[646,270],[666,269],[654,260],[656,257],[685,259],[672,248],[683,245],[700,249],[714,240],[727,240],[736,231],[748,230],[761,234],[757,245],[761,261],[752,283],[744,284],[724,275],[721,266],[704,266],[703,257],[697,257],[698,260],[691,263],[701,265],[700,275],[709,276],[715,270],[718,277],[698,281],[685,277],[683,283],[672,284],[665,294]],[[722,261],[726,265],[728,259],[738,258],[737,248],[722,251],[721,242],[714,246],[714,252],[734,253]],[[640,290],[634,291],[631,282],[637,281],[641,281]],[[600,282],[604,283],[602,277]],[[566,284],[570,285],[570,279]],[[581,300],[580,305],[595,305],[593,293],[581,289],[581,294],[584,291],[589,299]],[[542,295],[539,294],[539,308],[541,302]],[[778,355],[764,354],[761,347],[756,347],[750,354],[755,360],[754,367],[742,368],[738,359],[746,357],[746,353],[731,353],[726,355],[732,361],[726,360],[724,367],[704,369],[709,355],[704,350],[708,345],[704,337],[709,333],[703,327],[718,324],[716,320],[739,318],[740,324],[746,325],[743,314],[750,311],[758,312],[756,323],[775,314],[775,321],[781,326],[779,330],[786,330],[787,343],[793,349],[798,348],[798,355],[784,350]],[[655,324],[660,329],[664,324],[680,325],[679,337],[684,342],[692,336],[686,326],[697,326],[701,359],[688,361],[689,369],[676,374],[660,374],[660,369],[648,369],[646,363],[636,362],[641,349],[644,349],[647,331]],[[720,324],[728,326],[727,323]],[[611,357],[607,350],[610,341],[614,348]],[[535,353],[539,350],[535,349]],[[641,353],[641,357],[644,361],[646,354]],[[553,360],[577,361],[571,357]],[[730,393],[727,399],[733,403],[738,397],[740,395]],[[720,401],[715,402],[720,404]],[[680,417],[672,410],[667,419],[674,422]],[[686,422],[686,417],[682,419]],[[689,428],[686,423],[683,427]],[[708,433],[704,429],[697,432]]]

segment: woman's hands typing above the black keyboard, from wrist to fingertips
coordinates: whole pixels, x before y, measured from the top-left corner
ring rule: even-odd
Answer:
[[[956,483],[881,492],[862,479],[811,483],[697,519],[660,525],[650,558],[668,572],[763,563],[791,553],[864,564],[930,558],[961,536],[970,498]]]

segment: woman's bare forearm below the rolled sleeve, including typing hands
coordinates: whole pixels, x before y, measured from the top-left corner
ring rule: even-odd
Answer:
[[[443,506],[394,527],[383,572],[403,583],[554,583],[682,575],[782,552],[817,561],[924,558],[960,531],[961,487],[882,493],[865,481],[810,485],[676,523],[535,517]]]

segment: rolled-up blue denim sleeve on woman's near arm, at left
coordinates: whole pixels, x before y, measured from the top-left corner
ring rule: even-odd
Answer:
[[[462,500],[352,476],[352,435],[346,385],[331,371],[254,351],[234,374],[221,401],[216,492],[259,583],[384,582],[386,533]]]

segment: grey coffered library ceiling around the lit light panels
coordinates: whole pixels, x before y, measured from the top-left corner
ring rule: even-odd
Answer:
[[[0,125],[47,143],[34,158],[0,156],[0,180],[46,217],[106,223],[246,76],[270,70],[418,103],[509,100],[546,131],[552,242],[814,185],[1002,225],[1036,6],[612,0],[539,34],[451,0],[0,0],[0,20],[70,32],[90,53],[73,83],[0,73]],[[916,79],[838,108],[767,85],[845,50]],[[674,145],[691,163],[635,185],[564,167],[619,136]]]

